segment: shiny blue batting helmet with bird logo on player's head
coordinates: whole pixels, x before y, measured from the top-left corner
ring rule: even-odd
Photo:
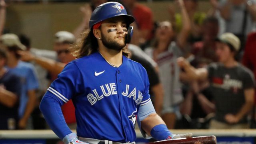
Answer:
[[[131,24],[135,20],[133,16],[127,14],[122,4],[118,2],[106,2],[92,12],[89,27],[91,29],[94,24],[116,16],[124,16],[128,24]]]

